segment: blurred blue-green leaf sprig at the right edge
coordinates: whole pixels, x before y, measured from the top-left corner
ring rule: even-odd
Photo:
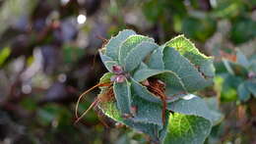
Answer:
[[[226,72],[216,77],[216,87],[221,91],[223,101],[248,101],[256,97],[256,59],[255,55],[248,60],[241,51],[237,50],[235,62],[224,58]],[[220,89],[219,89],[220,88]]]

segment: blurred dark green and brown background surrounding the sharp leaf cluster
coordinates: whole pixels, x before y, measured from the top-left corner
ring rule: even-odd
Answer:
[[[98,110],[74,125],[78,96],[106,72],[98,37],[123,28],[160,44],[183,33],[214,56],[216,84],[199,94],[217,98],[225,118],[205,143],[256,143],[255,98],[237,98],[256,65],[241,78],[222,61],[235,61],[235,49],[256,61],[256,0],[0,0],[0,143],[149,143]]]

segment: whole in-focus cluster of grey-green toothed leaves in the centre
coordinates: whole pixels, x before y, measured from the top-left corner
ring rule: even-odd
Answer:
[[[213,83],[213,58],[200,53],[183,35],[158,45],[153,38],[125,29],[99,53],[109,71],[100,83],[113,81],[115,101],[99,105],[109,118],[164,143],[203,143],[212,125],[221,119],[219,112],[210,110],[204,99],[191,94]],[[124,80],[113,80],[120,74],[115,67],[121,68]],[[165,84],[165,118],[161,118],[164,107],[160,97],[143,84],[151,78]],[[102,87],[98,96],[106,90],[107,87]]]

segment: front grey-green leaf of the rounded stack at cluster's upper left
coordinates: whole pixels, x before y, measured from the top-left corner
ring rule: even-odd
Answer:
[[[128,53],[124,61],[124,70],[126,72],[133,71],[141,64],[146,56],[157,48],[159,48],[159,46],[153,42],[141,42]]]

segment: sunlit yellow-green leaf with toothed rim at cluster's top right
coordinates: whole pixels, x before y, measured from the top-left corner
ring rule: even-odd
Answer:
[[[199,72],[203,72],[207,77],[215,75],[213,58],[207,57],[200,53],[195,45],[184,35],[178,35],[165,43],[165,46],[173,47],[180,55],[184,56],[190,63],[199,68]]]

